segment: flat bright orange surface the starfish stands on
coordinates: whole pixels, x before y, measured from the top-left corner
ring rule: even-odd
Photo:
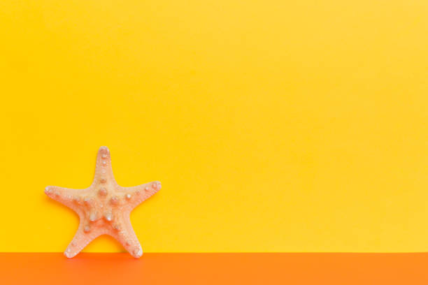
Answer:
[[[0,254],[0,284],[428,284],[428,254]]]

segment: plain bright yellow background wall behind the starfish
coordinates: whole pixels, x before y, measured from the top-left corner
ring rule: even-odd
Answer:
[[[0,251],[110,147],[145,251],[428,251],[428,2],[1,1]],[[99,238],[87,251],[120,251]]]

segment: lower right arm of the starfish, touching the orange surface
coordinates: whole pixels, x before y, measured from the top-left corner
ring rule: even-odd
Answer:
[[[112,236],[122,244],[131,256],[140,258],[143,255],[143,248],[136,237],[134,228],[132,228],[129,214],[124,213],[124,215],[128,217],[122,217],[120,221],[117,221],[117,224],[113,224],[113,227],[117,228],[117,231]]]

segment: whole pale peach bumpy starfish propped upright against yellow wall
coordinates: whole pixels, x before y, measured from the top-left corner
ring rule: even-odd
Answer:
[[[48,186],[46,195],[73,209],[80,217],[76,235],[64,255],[76,256],[99,235],[111,235],[135,258],[143,255],[132,228],[131,210],[161,189],[158,181],[136,187],[120,187],[113,176],[110,152],[100,147],[92,185],[87,189]]]

